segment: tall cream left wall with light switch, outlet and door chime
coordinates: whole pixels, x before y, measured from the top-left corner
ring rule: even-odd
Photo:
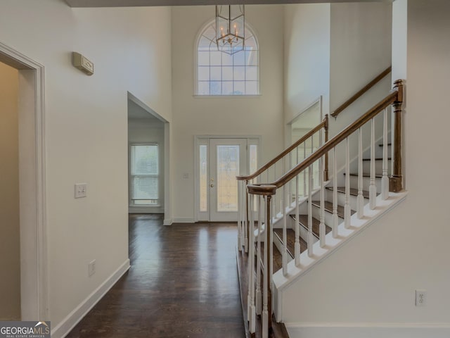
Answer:
[[[0,41],[46,72],[52,327],[127,263],[127,91],[172,120],[170,29],[169,8],[1,1]],[[94,62],[94,75],[72,67],[72,51]],[[85,199],[74,199],[76,182],[88,184]]]

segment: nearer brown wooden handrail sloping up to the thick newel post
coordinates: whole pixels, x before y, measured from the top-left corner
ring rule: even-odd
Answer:
[[[350,134],[358,130],[362,125],[366,124],[368,121],[370,121],[372,118],[374,118],[380,111],[387,108],[387,106],[390,106],[390,104],[394,104],[397,111],[400,111],[401,104],[403,103],[403,82],[401,80],[397,80],[395,82],[395,87],[392,89],[389,95],[385,97],[385,99],[378,102],[378,104],[375,104],[373,108],[369,109],[364,115],[362,115],[358,120],[356,120],[354,123],[348,125],[342,132],[337,134],[335,137],[330,139],[328,142],[323,144],[319,149],[314,151],[313,154],[305,158],[302,162],[300,162],[295,168],[288,171],[288,173],[285,173],[282,177],[280,177],[276,182],[271,183],[271,185],[276,186],[278,189],[279,187],[283,187],[286,183],[290,182],[290,180],[293,180],[295,176],[297,176],[299,173],[301,173],[303,170],[309,167],[312,163],[317,161],[321,156],[328,154],[328,151],[333,149],[335,146],[340,144],[342,140],[349,137]],[[400,115],[400,114],[397,114]],[[398,121],[398,123],[401,123],[401,120]],[[397,123],[396,123],[397,125]],[[399,128],[399,127],[397,127]],[[396,135],[397,137],[401,137],[401,135]],[[401,139],[397,139],[397,142],[401,142]],[[394,145],[394,149],[397,150],[398,156],[401,156],[401,145]],[[394,162],[398,161],[401,163],[400,158],[394,158]],[[393,177],[400,177],[401,178],[401,165],[394,165],[394,173],[392,175]],[[398,180],[397,180],[398,181]],[[262,194],[262,192],[258,192],[259,189],[262,189],[262,186],[267,186],[268,184],[249,184],[248,185],[248,192],[251,192],[252,194]],[[400,184],[401,185],[401,184]],[[399,188],[397,188],[399,189]],[[266,192],[266,188],[264,188],[264,192]]]

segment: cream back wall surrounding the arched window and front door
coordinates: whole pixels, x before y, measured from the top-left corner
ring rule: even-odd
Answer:
[[[283,7],[245,6],[260,51],[261,95],[252,97],[193,96],[195,38],[214,13],[214,6],[172,8],[175,221],[194,218],[195,135],[262,135],[262,161],[283,149]]]

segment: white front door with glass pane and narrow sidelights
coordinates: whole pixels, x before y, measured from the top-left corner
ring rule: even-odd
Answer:
[[[238,220],[236,176],[256,170],[259,138],[198,137],[196,155],[196,220]]]

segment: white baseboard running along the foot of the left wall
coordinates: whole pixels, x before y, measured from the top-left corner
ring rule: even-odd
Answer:
[[[110,275],[105,282],[103,282],[94,292],[89,294],[82,303],[79,304],[69,315],[64,318],[61,323],[56,325],[54,329],[51,330],[51,337],[52,338],[63,338],[65,337],[70,330],[72,330],[75,325],[79,323],[80,320],[84,318],[84,316],[91,311],[91,308],[93,308],[100,299],[102,299],[103,296],[105,296],[106,292],[108,292],[111,287],[117,282],[117,280],[124,275],[130,268],[129,259],[124,261],[122,265],[120,265],[117,270],[113,273],[113,275]]]

